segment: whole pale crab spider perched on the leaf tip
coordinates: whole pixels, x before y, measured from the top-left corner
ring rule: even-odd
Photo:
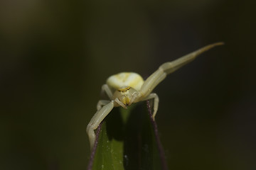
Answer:
[[[110,98],[110,101],[100,100],[97,103],[97,112],[93,115],[90,123],[87,125],[86,131],[90,140],[90,148],[92,149],[95,143],[94,130],[97,129],[98,125],[100,125],[102,120],[114,107],[122,106],[123,108],[127,108],[127,106],[130,106],[132,103],[154,98],[154,119],[159,106],[159,97],[156,94],[151,93],[154,88],[166,78],[167,74],[176,71],[176,69],[188,64],[188,62],[194,60],[198,55],[201,55],[201,53],[206,52],[217,45],[223,45],[223,42],[207,45],[206,47],[202,47],[201,49],[180,57],[173,62],[165,62],[145,81],[139,74],[134,72],[121,72],[109,77],[107,79],[107,84],[102,86],[102,91],[105,91]]]

